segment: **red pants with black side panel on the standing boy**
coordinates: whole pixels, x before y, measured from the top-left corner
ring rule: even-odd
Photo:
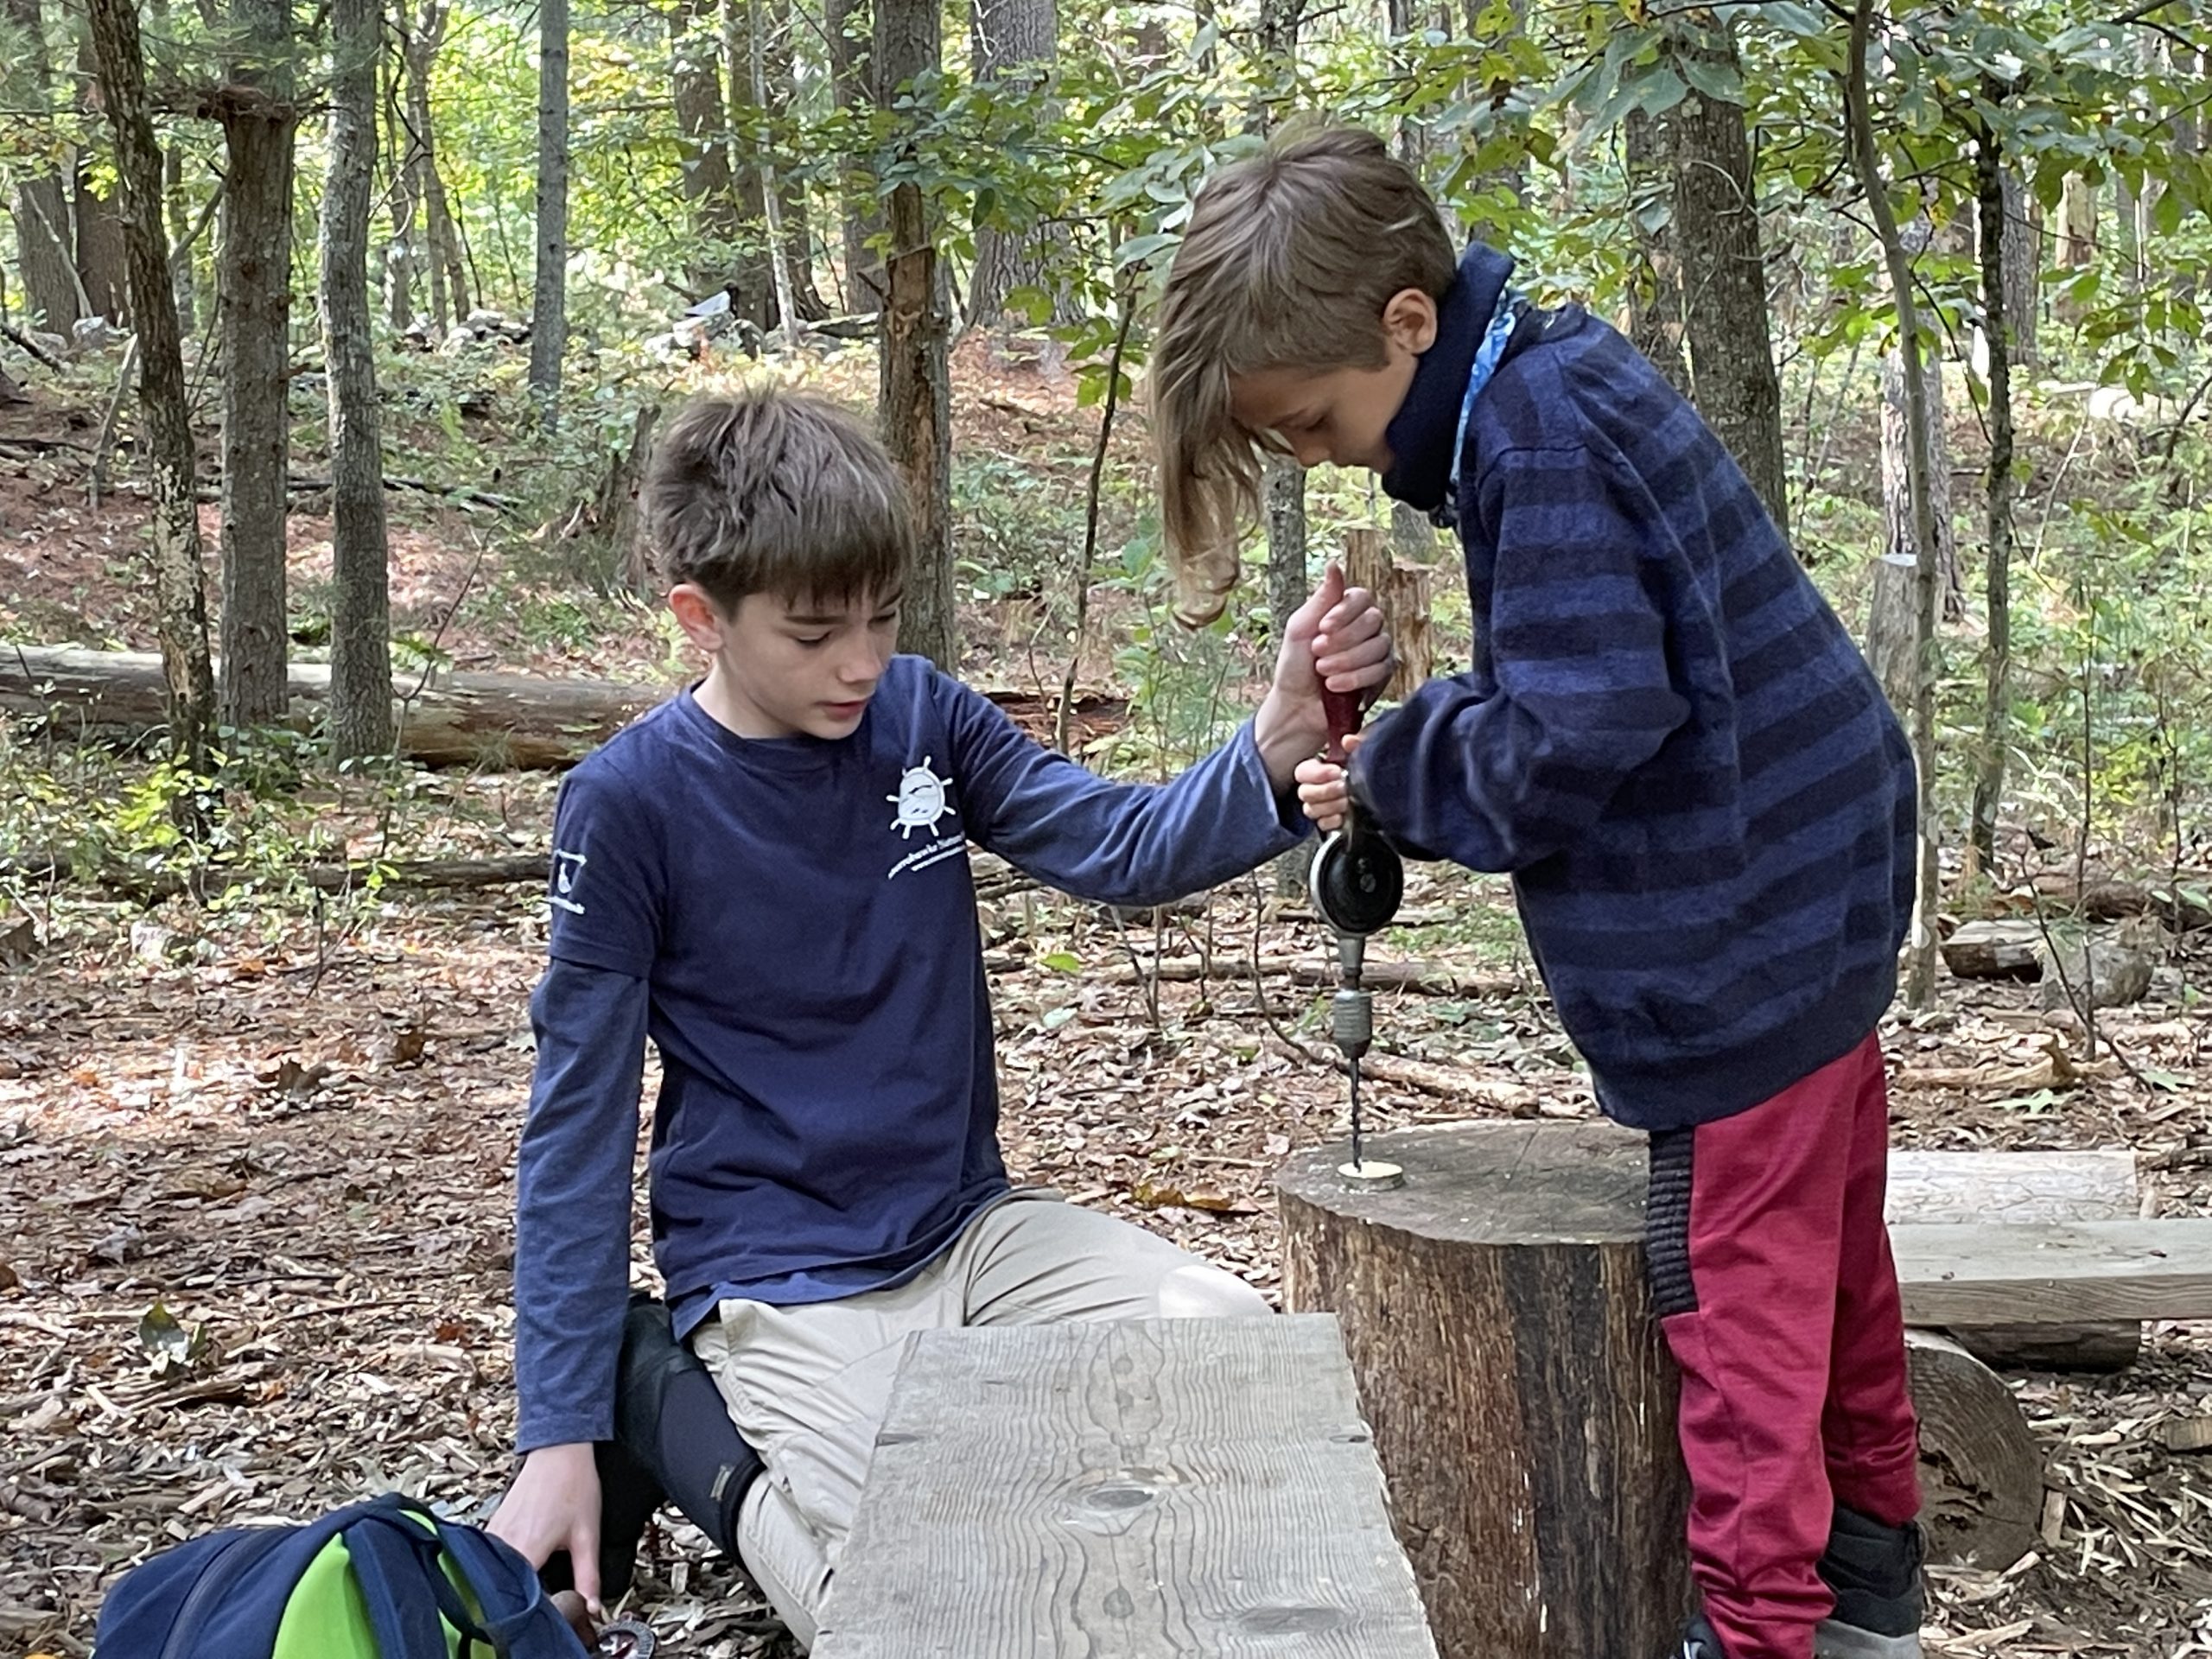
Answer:
[[[1887,1526],[1920,1511],[1887,1172],[1876,1035],[1747,1113],[1652,1137],[1690,1573],[1728,1659],[1812,1659],[1836,1504]]]

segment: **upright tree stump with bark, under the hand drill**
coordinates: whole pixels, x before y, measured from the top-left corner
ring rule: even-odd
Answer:
[[[1283,1303],[1334,1312],[1440,1652],[1650,1659],[1690,1608],[1674,1367],[1644,1279],[1641,1141],[1469,1124],[1281,1177]]]

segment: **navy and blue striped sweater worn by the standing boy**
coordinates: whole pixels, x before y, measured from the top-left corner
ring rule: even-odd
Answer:
[[[1354,781],[1413,856],[1513,874],[1608,1115],[1701,1124],[1889,1006],[1911,750],[1734,460],[1582,310],[1522,316],[1447,502],[1509,274],[1469,250],[1383,480],[1460,529],[1473,668],[1380,719]]]

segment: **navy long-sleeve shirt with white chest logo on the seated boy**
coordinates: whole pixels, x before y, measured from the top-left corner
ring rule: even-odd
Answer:
[[[518,1449],[611,1433],[646,1037],[653,1248],[723,1296],[898,1283],[1006,1190],[967,847],[1082,898],[1212,887],[1303,834],[1250,728],[1108,783],[896,657],[845,739],[748,741],[686,692],[564,783],[518,1159]]]

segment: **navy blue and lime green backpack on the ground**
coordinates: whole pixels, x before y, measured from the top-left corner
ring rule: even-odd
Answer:
[[[588,1659],[513,1548],[398,1493],[234,1526],[108,1590],[95,1659]]]

